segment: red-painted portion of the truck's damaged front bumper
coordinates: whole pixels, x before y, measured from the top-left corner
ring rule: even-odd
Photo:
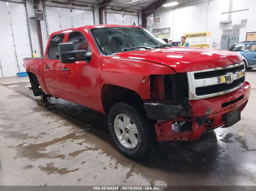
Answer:
[[[192,113],[192,118],[190,120],[182,117],[177,117],[173,120],[162,121],[155,124],[158,141],[194,141],[195,139],[198,139],[207,130],[216,129],[218,127],[224,126],[225,123],[223,123],[222,121],[222,115],[232,110],[235,110],[238,107],[241,107],[242,111],[247,104],[249,94],[250,84],[248,82],[245,82],[242,88],[233,91],[229,94],[224,94],[221,96],[201,100],[190,100]],[[234,100],[240,97],[241,95],[244,95],[244,98],[241,99],[239,102],[224,108],[221,107],[222,103]],[[198,123],[196,122],[196,117],[204,116],[204,113],[208,111],[208,108],[211,108],[211,110],[213,111],[213,113],[209,115],[208,121],[213,121],[214,123],[205,123],[201,126],[198,126]],[[175,122],[182,121],[192,123],[191,132],[179,133],[172,131],[172,124]]]

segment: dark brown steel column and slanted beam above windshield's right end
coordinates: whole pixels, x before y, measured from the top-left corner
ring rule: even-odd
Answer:
[[[147,17],[165,3],[167,3],[167,0],[158,0],[142,10],[142,27],[147,28]]]

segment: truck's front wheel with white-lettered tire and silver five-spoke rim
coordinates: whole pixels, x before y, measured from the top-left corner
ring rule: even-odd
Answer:
[[[145,158],[157,144],[154,124],[129,103],[118,102],[111,107],[108,114],[108,129],[118,151],[128,158]]]

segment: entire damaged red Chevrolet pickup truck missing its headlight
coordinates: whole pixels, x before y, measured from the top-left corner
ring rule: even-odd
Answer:
[[[233,52],[170,47],[138,26],[52,33],[43,58],[25,58],[35,96],[108,115],[118,150],[143,158],[159,141],[193,141],[241,119],[250,84]]]

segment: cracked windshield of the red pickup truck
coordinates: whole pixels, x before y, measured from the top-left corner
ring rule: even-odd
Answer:
[[[169,46],[164,40],[144,28],[138,27],[102,27],[91,29],[104,55],[135,49],[152,49],[156,46]]]

